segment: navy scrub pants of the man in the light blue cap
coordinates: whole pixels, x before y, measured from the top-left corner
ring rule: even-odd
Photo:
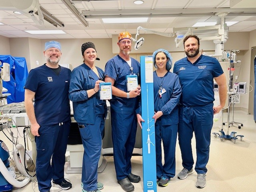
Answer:
[[[64,180],[65,153],[71,121],[41,126],[36,141],[36,177],[40,192],[50,190],[54,182]],[[50,160],[52,158],[52,165]]]

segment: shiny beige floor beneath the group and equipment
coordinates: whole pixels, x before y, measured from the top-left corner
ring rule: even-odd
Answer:
[[[224,121],[227,114],[224,114]],[[231,126],[229,134],[232,131],[237,132],[236,135],[242,134],[244,138],[236,140],[234,143],[231,140],[220,141],[219,138],[214,138],[212,134],[210,146],[210,160],[206,174],[207,184],[205,188],[198,189],[195,186],[196,173],[188,176],[184,180],[179,180],[177,176],[171,179],[168,186],[162,188],[157,187],[158,192],[254,192],[256,191],[256,124],[252,115],[246,114],[243,111],[235,111],[234,120],[242,122],[243,127],[238,129]],[[221,120],[214,123],[212,132],[218,132],[221,129]],[[226,133],[226,127],[224,126]],[[10,141],[0,132],[0,138],[6,142],[8,147],[12,147]],[[239,137],[238,137],[239,138]],[[195,151],[195,141],[192,141],[193,150]],[[196,154],[194,153],[194,159]],[[116,181],[113,157],[107,158],[107,166],[104,172],[98,174],[98,181],[104,183],[102,192],[123,192]],[[180,149],[177,144],[176,148],[176,174],[182,169],[182,160]],[[132,157],[132,172],[142,175],[142,157]],[[72,188],[68,192],[81,192],[80,187],[81,174],[65,174],[65,178],[72,182]],[[142,177],[143,178],[143,177]],[[143,192],[143,181],[134,184],[135,192]],[[14,192],[38,192],[37,184],[30,183],[24,188],[14,189]],[[61,191],[58,188],[52,187],[51,192]]]

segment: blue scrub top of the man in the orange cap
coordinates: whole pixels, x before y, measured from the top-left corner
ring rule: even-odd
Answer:
[[[132,68],[131,71],[128,63],[123,60],[119,55],[111,58],[105,66],[105,76],[109,76],[115,80],[114,86],[124,92],[127,92],[126,75],[130,75],[132,72],[138,76],[138,84],[140,84],[140,63],[131,58]],[[110,106],[114,111],[122,114],[134,113],[138,107],[139,97],[135,98],[123,98],[112,96],[110,100]]]

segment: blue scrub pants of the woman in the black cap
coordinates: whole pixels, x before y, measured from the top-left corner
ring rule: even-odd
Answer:
[[[98,162],[101,153],[101,143],[104,130],[104,115],[96,115],[95,124],[82,124],[84,128],[79,128],[82,143],[84,146],[82,183],[84,190],[97,190]]]

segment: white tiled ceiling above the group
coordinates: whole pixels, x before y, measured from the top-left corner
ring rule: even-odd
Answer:
[[[196,22],[216,22],[216,14],[224,12],[226,21],[238,21],[229,32],[249,32],[256,29],[255,0],[144,0],[136,5],[134,0],[39,0],[42,8],[60,20],[64,27],[44,20],[36,24],[26,15],[14,14],[16,8],[3,7],[0,0],[0,35],[8,38],[112,38],[112,34],[129,31],[136,34],[137,27],[159,32],[172,32],[173,28],[192,27]],[[12,2],[36,2],[38,0],[10,0]],[[66,3],[80,15],[76,16]],[[86,27],[79,18],[88,23]],[[102,18],[148,17],[146,23],[104,24]],[[28,34],[24,30],[63,30],[66,34]],[[147,32],[140,32],[147,33]]]

